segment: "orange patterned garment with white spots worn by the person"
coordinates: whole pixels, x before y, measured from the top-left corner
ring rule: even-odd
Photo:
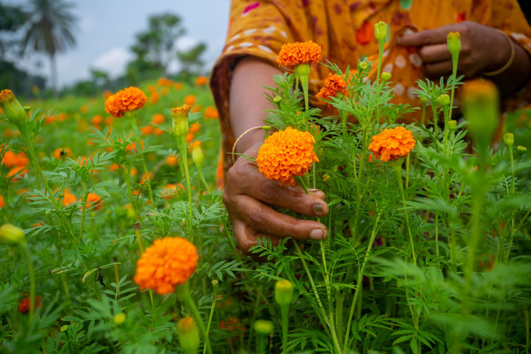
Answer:
[[[403,8],[403,3],[409,3],[409,8]],[[342,70],[347,65],[355,68],[358,58],[378,58],[374,23],[384,21],[389,24],[391,40],[384,53],[382,71],[392,73],[396,97],[391,102],[418,107],[421,102],[413,90],[417,87],[415,81],[424,78],[422,60],[417,48],[393,46],[394,36],[412,27],[422,31],[465,20],[503,30],[531,53],[531,27],[517,0],[232,0],[227,41],[210,81],[222,134],[218,184],[223,184],[224,172],[232,163],[226,154],[232,151],[235,140],[228,100],[237,58],[251,55],[278,66],[276,59],[282,44],[313,40],[322,47],[323,62],[328,59]],[[309,84],[312,96],[329,72],[323,65],[312,66]],[[531,102],[528,87],[531,83],[506,99],[504,109],[527,106]],[[310,101],[314,107],[327,108],[314,97]],[[413,119],[414,116],[406,118]]]

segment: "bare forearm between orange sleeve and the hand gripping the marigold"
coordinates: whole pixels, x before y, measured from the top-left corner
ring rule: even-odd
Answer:
[[[273,86],[272,75],[282,72],[261,59],[245,57],[234,68],[230,84],[230,125],[237,139],[247,129],[263,125],[264,109],[272,108],[263,85]],[[256,129],[245,134],[236,146],[242,153],[263,140],[264,132]]]

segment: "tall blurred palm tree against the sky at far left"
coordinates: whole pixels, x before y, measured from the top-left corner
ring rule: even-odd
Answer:
[[[52,88],[57,92],[57,64],[55,55],[75,46],[73,31],[77,29],[74,4],[64,0],[30,0],[31,11],[23,51],[33,50],[50,58]]]

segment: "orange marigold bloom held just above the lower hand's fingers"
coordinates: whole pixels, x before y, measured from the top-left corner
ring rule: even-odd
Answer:
[[[280,185],[293,185],[293,176],[304,176],[312,163],[319,162],[313,151],[314,137],[308,132],[287,127],[265,139],[256,163],[265,177],[280,182]]]

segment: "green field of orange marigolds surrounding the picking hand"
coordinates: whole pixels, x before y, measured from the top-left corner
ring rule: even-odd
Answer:
[[[321,189],[327,231],[261,237],[253,257],[224,208],[205,77],[60,100],[1,88],[0,352],[527,354],[527,111],[500,125],[495,86],[455,70],[418,82],[422,107],[394,105],[381,64],[320,53],[282,48],[267,139],[238,161]],[[337,117],[308,106],[312,63]]]

